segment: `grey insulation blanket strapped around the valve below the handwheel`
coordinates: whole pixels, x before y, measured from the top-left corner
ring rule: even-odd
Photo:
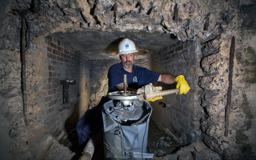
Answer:
[[[132,102],[134,109],[130,110],[131,113],[126,116],[126,121],[120,120],[124,117],[118,119],[119,116],[114,116],[116,114],[115,109],[120,113],[116,100],[110,100],[103,105],[102,117],[106,159],[136,160],[142,157],[143,159],[153,158],[154,156],[154,154],[146,153],[148,123],[152,108],[145,101],[136,99]],[[127,110],[124,109],[123,111],[126,112]]]

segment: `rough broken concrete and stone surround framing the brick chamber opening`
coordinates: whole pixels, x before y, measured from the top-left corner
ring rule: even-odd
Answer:
[[[44,80],[40,75],[40,53],[36,37],[49,33],[97,30],[145,31],[173,33],[179,39],[199,41],[202,45],[203,75],[199,85],[201,106],[205,114],[201,118],[199,137],[205,145],[226,159],[252,158],[256,153],[253,131],[255,129],[255,29],[246,27],[243,15],[247,14],[252,1],[222,0],[176,0],[176,1],[82,1],[82,0],[4,0],[0,17],[0,99],[1,119],[5,119],[4,132],[9,135],[6,145],[12,159],[33,159],[31,137],[43,132],[43,111],[38,90]],[[243,8],[244,7],[244,8]],[[30,23],[31,42],[27,51],[27,96],[28,113],[34,113],[24,123],[21,78],[20,78],[20,15],[12,10],[24,11]],[[176,9],[176,10],[175,10]],[[26,12],[26,13],[25,13]],[[244,14],[243,14],[244,13]],[[250,13],[249,13],[250,15]],[[244,22],[243,22],[244,20]],[[255,16],[252,15],[252,20]],[[255,24],[255,23],[252,23]],[[245,28],[241,27],[245,25]],[[250,25],[249,25],[250,26]],[[255,25],[251,25],[255,26]],[[250,33],[245,33],[247,29]],[[245,31],[244,31],[245,30]],[[227,102],[229,52],[231,38],[235,37],[235,58],[231,92],[231,110],[228,135],[225,131],[225,109]],[[250,91],[250,92],[248,92]],[[248,99],[248,100],[247,100]],[[248,107],[247,107],[248,106]],[[6,135],[5,134],[5,135]],[[250,141],[249,141],[250,140]],[[186,154],[179,151],[173,159],[191,159],[189,147]],[[187,149],[186,149],[187,148]],[[2,150],[2,149],[1,149]],[[244,154],[242,150],[246,150]],[[205,150],[208,153],[209,149]],[[2,151],[1,151],[2,152]],[[198,152],[199,159],[203,152]],[[196,154],[196,155],[197,155]],[[72,155],[72,154],[71,154]],[[216,155],[215,155],[216,156]],[[250,157],[251,156],[251,157]],[[202,156],[201,156],[202,157]],[[216,156],[218,158],[218,156]],[[165,159],[165,158],[162,158]],[[166,159],[170,159],[166,158]]]

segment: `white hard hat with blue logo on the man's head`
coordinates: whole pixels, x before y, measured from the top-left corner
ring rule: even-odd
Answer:
[[[135,44],[128,38],[124,38],[121,42],[118,44],[118,52],[116,54],[129,54],[129,53],[135,53],[139,52]]]

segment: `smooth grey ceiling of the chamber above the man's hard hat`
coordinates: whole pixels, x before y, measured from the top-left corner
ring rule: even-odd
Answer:
[[[130,38],[140,50],[137,57],[160,50],[171,44],[175,37],[167,33],[148,32],[101,32],[101,31],[76,31],[58,32],[52,36],[62,43],[73,47],[86,54],[89,58],[117,57],[118,43],[123,38]]]

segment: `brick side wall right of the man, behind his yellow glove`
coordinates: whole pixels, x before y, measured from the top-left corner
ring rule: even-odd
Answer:
[[[142,59],[142,66],[162,74],[184,75],[189,86],[186,95],[166,95],[162,100],[152,102],[152,118],[157,125],[172,134],[182,144],[196,139],[199,131],[201,89],[198,87],[200,69],[200,44],[195,42],[176,41],[162,50],[147,55]],[[174,89],[175,85],[157,82],[155,86],[163,86],[163,90]]]

